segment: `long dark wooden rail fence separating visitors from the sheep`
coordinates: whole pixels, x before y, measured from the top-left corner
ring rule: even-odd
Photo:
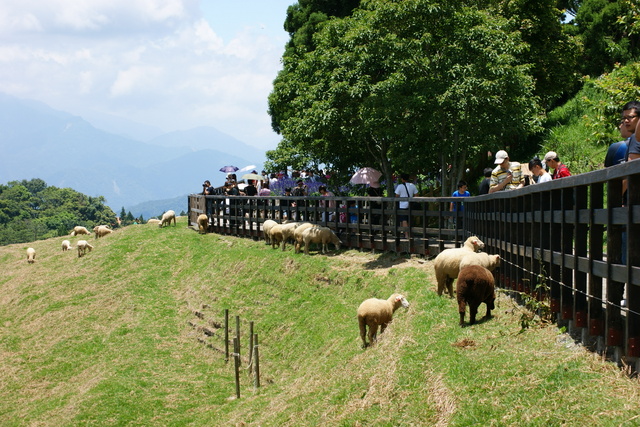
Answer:
[[[628,182],[623,203],[623,180]],[[549,301],[583,342],[640,357],[640,161],[515,191],[459,198],[189,196],[189,220],[260,239],[269,218],[326,225],[348,248],[435,256],[477,235],[500,254],[501,288]],[[411,218],[402,227],[400,215]],[[545,284],[545,286],[539,286]]]

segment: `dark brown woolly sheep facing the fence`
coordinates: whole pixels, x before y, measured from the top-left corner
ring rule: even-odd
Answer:
[[[496,300],[493,274],[481,265],[469,265],[460,269],[456,294],[458,295],[458,312],[460,326],[464,326],[464,313],[469,305],[469,324],[476,323],[476,314],[481,303],[487,306],[485,319],[491,318],[491,310],[495,308]]]

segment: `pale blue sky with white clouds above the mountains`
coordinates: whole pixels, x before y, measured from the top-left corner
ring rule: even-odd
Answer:
[[[293,0],[3,0],[0,92],[276,147],[267,96]],[[88,115],[88,114],[87,114]]]

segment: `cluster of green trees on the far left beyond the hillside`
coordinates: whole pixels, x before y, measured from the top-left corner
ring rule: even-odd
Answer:
[[[104,197],[49,187],[38,178],[0,185],[0,245],[64,236],[76,225],[117,226]]]

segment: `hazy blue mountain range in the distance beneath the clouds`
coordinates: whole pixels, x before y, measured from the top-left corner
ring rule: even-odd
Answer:
[[[0,94],[0,183],[40,178],[51,186],[104,196],[116,214],[135,207],[134,216],[147,218],[167,209],[186,210],[187,195],[199,193],[205,179],[214,186],[224,182],[221,167],[260,169],[265,158],[264,151],[212,127],[142,141],[127,136],[136,135],[131,129],[104,130],[105,123],[94,126],[38,101]],[[153,134],[143,131],[139,134]],[[146,202],[175,203],[182,196],[183,206],[155,213],[143,208]]]

